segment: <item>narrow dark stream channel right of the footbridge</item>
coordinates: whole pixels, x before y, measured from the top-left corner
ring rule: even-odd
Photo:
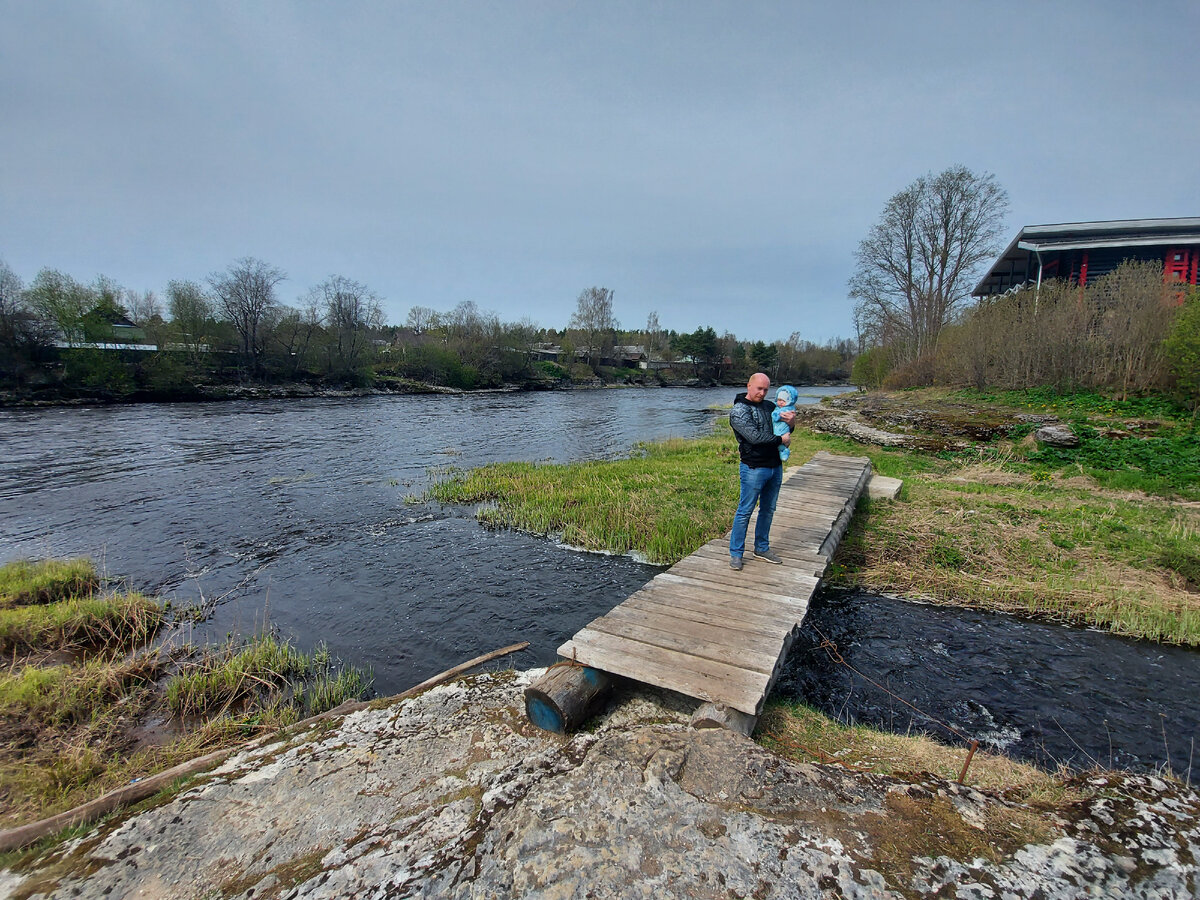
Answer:
[[[826,640],[848,666],[822,648]],[[1198,676],[1200,654],[1182,647],[826,590],[776,694],[844,721],[976,739],[1050,768],[1169,763],[1183,776],[1200,749]]]

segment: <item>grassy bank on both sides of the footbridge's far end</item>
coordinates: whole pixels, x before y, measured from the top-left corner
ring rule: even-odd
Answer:
[[[793,436],[788,464],[817,450],[866,455],[876,473],[905,481],[896,502],[863,500],[832,584],[1200,646],[1200,439],[1182,412],[1091,395],[926,391],[852,395],[802,414],[818,421],[872,400],[887,401],[902,422],[887,433],[907,445],[803,424]],[[1079,444],[1038,442],[1050,422],[1076,428]],[[719,424],[713,436],[644,445],[628,460],[454,473],[432,496],[481,504],[478,517],[496,527],[671,564],[727,529],[736,469]]]

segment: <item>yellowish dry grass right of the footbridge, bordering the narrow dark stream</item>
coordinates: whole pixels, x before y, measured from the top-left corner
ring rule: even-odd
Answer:
[[[948,466],[911,476],[904,502],[868,504],[834,580],[1198,646],[1198,527],[1170,500]]]

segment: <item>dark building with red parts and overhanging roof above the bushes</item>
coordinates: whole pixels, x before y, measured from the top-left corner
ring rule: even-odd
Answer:
[[[1162,263],[1166,283],[1196,284],[1200,218],[1026,226],[971,293],[994,296],[1045,278],[1082,286],[1130,259]]]

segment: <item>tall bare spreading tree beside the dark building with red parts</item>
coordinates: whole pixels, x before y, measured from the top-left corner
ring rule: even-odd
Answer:
[[[860,329],[892,336],[906,360],[932,356],[972,276],[995,256],[1007,210],[995,178],[964,166],[923,175],[892,197],[854,253],[850,295]]]

